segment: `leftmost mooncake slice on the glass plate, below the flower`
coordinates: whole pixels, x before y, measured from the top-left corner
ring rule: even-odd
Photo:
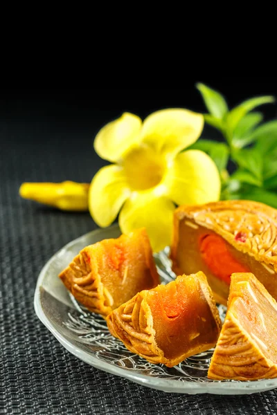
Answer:
[[[103,316],[159,284],[144,228],[87,246],[59,276],[75,299]]]

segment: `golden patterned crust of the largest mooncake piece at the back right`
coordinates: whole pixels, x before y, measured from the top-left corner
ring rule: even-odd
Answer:
[[[277,273],[277,210],[253,201],[220,201],[180,206],[175,211],[170,257],[177,268],[179,222],[185,218],[211,229],[237,250],[272,266]]]

